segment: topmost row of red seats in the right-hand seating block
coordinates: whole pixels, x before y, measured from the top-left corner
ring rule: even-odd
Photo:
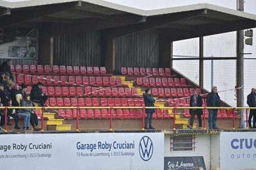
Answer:
[[[122,67],[121,74],[127,76],[135,76],[135,77],[144,77],[147,75],[160,76],[160,77],[171,77],[171,69],[170,68],[131,68]]]

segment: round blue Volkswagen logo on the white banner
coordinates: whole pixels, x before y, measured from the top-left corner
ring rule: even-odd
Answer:
[[[139,152],[141,159],[148,161],[153,155],[153,143],[148,136],[140,139]]]

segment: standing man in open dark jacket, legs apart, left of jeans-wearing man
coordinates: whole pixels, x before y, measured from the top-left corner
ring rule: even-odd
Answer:
[[[203,105],[203,100],[200,95],[198,95],[197,89],[194,89],[194,95],[190,97],[190,105],[189,107],[202,107]],[[195,115],[198,117],[198,122],[199,122],[199,129],[202,129],[202,115],[203,115],[203,110],[201,108],[191,108],[189,110],[189,114],[191,115],[190,120],[189,120],[189,129],[193,129],[193,123],[194,123],[194,118]]]

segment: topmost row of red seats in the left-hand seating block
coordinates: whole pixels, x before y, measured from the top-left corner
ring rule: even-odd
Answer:
[[[23,74],[68,74],[68,75],[107,75],[105,67],[85,67],[85,66],[65,66],[53,65],[52,71],[50,65],[11,65],[12,73]]]

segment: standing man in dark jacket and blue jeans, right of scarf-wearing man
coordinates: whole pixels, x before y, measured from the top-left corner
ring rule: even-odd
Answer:
[[[212,87],[212,92],[207,95],[207,107],[221,107],[221,99],[218,95],[218,90],[216,86]],[[219,129],[216,125],[218,109],[208,109],[209,111],[209,129]]]

